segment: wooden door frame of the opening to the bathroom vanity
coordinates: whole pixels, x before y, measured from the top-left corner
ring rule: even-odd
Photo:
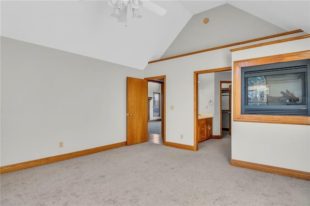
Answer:
[[[218,69],[202,70],[194,72],[194,151],[198,150],[198,74],[215,73],[231,71],[232,67],[223,67]]]

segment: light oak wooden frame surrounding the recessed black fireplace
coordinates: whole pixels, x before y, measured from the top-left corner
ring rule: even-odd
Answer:
[[[244,115],[241,114],[241,69],[242,67],[310,59],[310,50],[288,54],[274,55],[255,59],[233,62],[233,120],[243,122],[263,122],[277,124],[310,125],[310,117],[275,116],[275,115]]]

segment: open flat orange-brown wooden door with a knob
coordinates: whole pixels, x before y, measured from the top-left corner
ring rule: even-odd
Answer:
[[[147,81],[127,77],[127,145],[147,141]]]

